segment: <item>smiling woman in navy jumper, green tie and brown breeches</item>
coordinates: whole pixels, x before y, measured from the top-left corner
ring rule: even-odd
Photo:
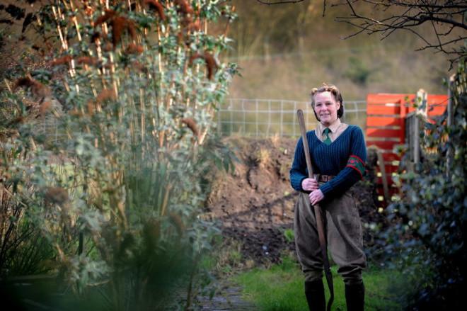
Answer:
[[[367,158],[362,130],[340,122],[342,96],[333,85],[323,84],[311,93],[311,106],[319,121],[306,133],[315,178],[308,178],[302,139],[296,145],[290,182],[300,191],[295,206],[296,252],[305,275],[310,310],[325,310],[323,260],[316,218],[311,205],[325,213],[328,249],[345,283],[347,310],[364,309],[362,269],[366,266],[362,225],[349,188],[362,179]],[[324,215],[324,214],[323,214]]]

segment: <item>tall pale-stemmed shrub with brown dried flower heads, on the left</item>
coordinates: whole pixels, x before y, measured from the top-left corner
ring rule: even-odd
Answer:
[[[165,310],[176,285],[189,309],[218,232],[199,217],[204,176],[233,167],[210,132],[236,65],[218,60],[229,38],[207,33],[231,7],[53,1],[35,17],[45,65],[21,65],[1,93],[1,193],[79,295],[94,286],[111,310]]]

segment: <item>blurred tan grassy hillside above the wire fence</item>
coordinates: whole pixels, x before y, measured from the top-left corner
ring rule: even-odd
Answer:
[[[231,26],[233,49],[227,55],[243,77],[233,79],[231,97],[308,101],[310,90],[323,82],[338,85],[347,101],[364,100],[368,93],[412,94],[420,87],[444,94],[446,55],[415,52],[425,43],[410,32],[391,33],[384,40],[377,35],[342,40],[355,28],[336,21],[350,14],[347,4],[338,2],[326,1],[323,16],[319,0],[272,6],[232,0],[238,21]],[[361,1],[352,6],[375,18],[385,14]],[[432,25],[419,31],[431,38]]]

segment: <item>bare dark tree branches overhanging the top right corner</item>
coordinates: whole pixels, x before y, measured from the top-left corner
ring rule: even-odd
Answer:
[[[287,4],[304,0],[257,1],[263,4]],[[345,38],[367,33],[379,34],[384,39],[396,30],[405,30],[423,41],[424,45],[418,50],[443,52],[451,56],[451,64],[467,55],[466,47],[463,46],[467,40],[465,0],[337,0],[330,6],[347,6],[350,9],[348,15],[336,18],[337,21],[358,28]],[[362,9],[362,6],[371,8]],[[326,1],[323,0],[323,13],[325,7]],[[431,33],[427,33],[425,25],[431,28]]]

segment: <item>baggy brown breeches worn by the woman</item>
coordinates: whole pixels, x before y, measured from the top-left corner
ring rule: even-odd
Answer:
[[[342,196],[322,201],[320,205],[325,213],[328,251],[338,265],[338,273],[347,285],[361,283],[362,269],[367,261],[363,251],[362,224],[354,198],[347,191]],[[294,232],[296,254],[305,281],[322,278],[323,259],[316,217],[306,193],[299,194],[295,205]]]

